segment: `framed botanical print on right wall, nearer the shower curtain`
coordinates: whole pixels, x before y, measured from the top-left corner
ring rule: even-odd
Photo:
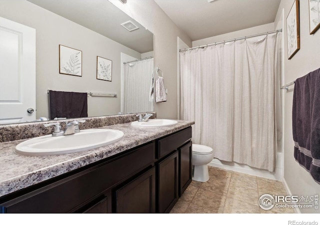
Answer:
[[[299,0],[294,0],[286,17],[288,59],[300,49]]]

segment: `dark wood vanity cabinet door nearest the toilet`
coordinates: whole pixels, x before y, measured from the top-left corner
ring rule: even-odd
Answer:
[[[179,196],[192,181],[192,142],[179,148]]]

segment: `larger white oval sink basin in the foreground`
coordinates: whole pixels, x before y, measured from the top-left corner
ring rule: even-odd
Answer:
[[[78,133],[34,137],[15,146],[15,152],[24,155],[65,154],[89,150],[120,140],[124,133],[116,129],[84,129]]]

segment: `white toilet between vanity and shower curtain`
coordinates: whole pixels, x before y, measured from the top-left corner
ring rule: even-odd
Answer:
[[[209,179],[208,163],[213,159],[211,147],[192,144],[192,179],[195,181],[206,182]]]

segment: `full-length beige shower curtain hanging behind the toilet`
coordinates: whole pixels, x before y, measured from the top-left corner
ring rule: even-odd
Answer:
[[[274,170],[280,35],[180,52],[180,117],[214,157]]]

